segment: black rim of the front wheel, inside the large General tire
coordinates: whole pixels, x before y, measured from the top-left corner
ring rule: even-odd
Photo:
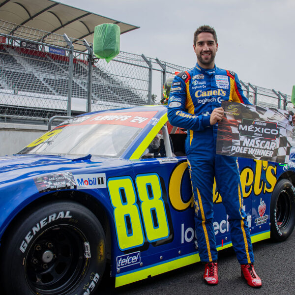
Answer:
[[[87,266],[80,230],[73,226],[52,227],[38,236],[25,260],[26,280],[32,291],[68,294],[81,282]]]

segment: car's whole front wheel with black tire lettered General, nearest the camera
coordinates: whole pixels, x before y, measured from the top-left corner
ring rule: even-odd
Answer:
[[[9,229],[1,248],[6,295],[91,294],[106,264],[100,222],[88,208],[70,201],[30,210]]]

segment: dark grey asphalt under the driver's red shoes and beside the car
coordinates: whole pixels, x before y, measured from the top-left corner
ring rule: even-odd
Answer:
[[[232,248],[219,252],[217,286],[203,283],[201,263],[181,267],[119,288],[105,278],[95,295],[294,295],[295,231],[284,242],[265,240],[253,244],[255,270],[263,286],[255,289],[240,277]]]

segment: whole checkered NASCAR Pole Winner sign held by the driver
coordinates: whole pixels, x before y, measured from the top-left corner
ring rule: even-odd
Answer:
[[[288,163],[292,140],[292,111],[222,101],[218,123],[218,154]]]

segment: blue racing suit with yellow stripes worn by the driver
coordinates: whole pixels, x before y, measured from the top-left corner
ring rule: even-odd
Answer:
[[[213,109],[221,101],[250,104],[237,75],[198,63],[175,76],[168,100],[168,118],[173,126],[187,129],[185,151],[195,202],[195,225],[199,255],[203,262],[217,260],[213,229],[214,177],[222,204],[229,215],[231,237],[240,264],[254,262],[250,232],[243,210],[237,158],[216,154],[217,126],[210,125]]]

